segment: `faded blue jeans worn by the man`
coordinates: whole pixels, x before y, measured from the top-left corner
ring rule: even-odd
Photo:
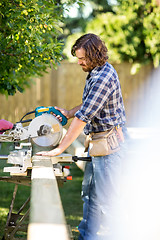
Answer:
[[[113,154],[86,163],[82,183],[83,220],[79,240],[119,240],[120,185],[126,143]]]

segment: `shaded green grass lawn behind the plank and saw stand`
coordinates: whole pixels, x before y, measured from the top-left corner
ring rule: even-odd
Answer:
[[[0,155],[8,154],[12,149],[13,145],[3,143],[0,150]],[[0,176],[9,175],[3,172],[4,166],[7,166],[6,161],[0,160]],[[80,196],[83,172],[76,166],[76,164],[72,164],[70,166],[70,172],[73,180],[64,183],[63,187],[61,187],[59,190],[67,224],[70,226],[73,239],[77,240],[79,235],[77,226],[79,225],[83,215],[82,200]],[[4,227],[12,200],[14,186],[15,185],[12,183],[0,182],[0,239],[4,234]],[[19,210],[29,195],[30,187],[19,185],[14,204],[15,212]]]

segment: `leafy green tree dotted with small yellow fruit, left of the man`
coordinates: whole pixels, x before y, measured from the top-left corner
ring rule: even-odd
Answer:
[[[31,78],[62,59],[63,10],[81,1],[1,0],[0,93],[22,92]]]

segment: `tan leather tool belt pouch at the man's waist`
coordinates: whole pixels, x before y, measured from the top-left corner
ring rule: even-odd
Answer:
[[[106,156],[118,150],[120,150],[120,146],[114,128],[91,136],[89,141],[90,156]]]

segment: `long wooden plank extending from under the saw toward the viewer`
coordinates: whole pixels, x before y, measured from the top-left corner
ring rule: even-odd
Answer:
[[[31,213],[28,240],[69,240],[56,177],[50,157],[32,158]]]

